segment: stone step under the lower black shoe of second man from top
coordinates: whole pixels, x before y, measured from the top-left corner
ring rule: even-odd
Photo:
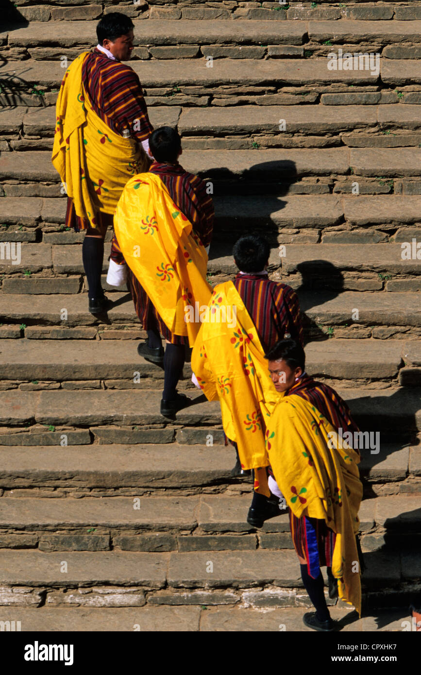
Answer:
[[[362,429],[388,433],[410,441],[421,431],[420,389],[339,389]],[[207,401],[199,392],[190,393],[192,403],[177,413],[176,425],[183,427],[221,425],[219,402]],[[79,390],[1,391],[0,425],[29,427],[169,426],[159,412],[161,391]],[[173,425],[172,425],[173,426]],[[50,428],[51,427],[51,428]],[[210,432],[211,433],[211,432]],[[391,442],[391,441],[388,441]]]

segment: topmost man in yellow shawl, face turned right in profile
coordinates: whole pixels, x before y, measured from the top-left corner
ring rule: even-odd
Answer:
[[[85,229],[82,260],[90,313],[104,311],[104,238],[123,187],[147,171],[148,119],[142,86],[121,61],[133,50],[132,20],[113,12],[96,26],[98,45],[67,68],[56,107],[53,165],[67,192],[65,224]]]

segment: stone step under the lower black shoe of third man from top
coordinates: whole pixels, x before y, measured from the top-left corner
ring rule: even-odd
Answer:
[[[397,543],[397,537],[403,547],[421,543],[419,499],[419,494],[390,495],[364,501],[362,545],[371,550],[383,547],[384,553],[392,542]],[[236,497],[3,497],[0,548],[38,547],[45,552],[293,548],[286,513],[266,520],[258,533],[248,534],[256,531],[246,521],[249,506],[250,493]]]

